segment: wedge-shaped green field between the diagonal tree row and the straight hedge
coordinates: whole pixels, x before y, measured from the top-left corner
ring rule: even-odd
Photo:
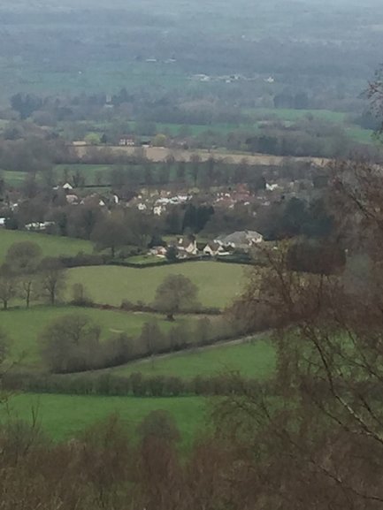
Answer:
[[[252,343],[208,347],[187,354],[172,354],[154,359],[129,363],[113,369],[113,374],[127,376],[141,372],[145,376],[174,376],[191,379],[210,377],[228,371],[239,372],[243,377],[269,377],[275,369],[275,351],[266,340]]]

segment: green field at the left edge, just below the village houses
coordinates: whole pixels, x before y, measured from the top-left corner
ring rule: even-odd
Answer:
[[[0,230],[0,263],[15,242],[32,241],[42,248],[43,256],[77,255],[80,251],[92,253],[93,245],[86,240],[58,237],[36,232]]]

